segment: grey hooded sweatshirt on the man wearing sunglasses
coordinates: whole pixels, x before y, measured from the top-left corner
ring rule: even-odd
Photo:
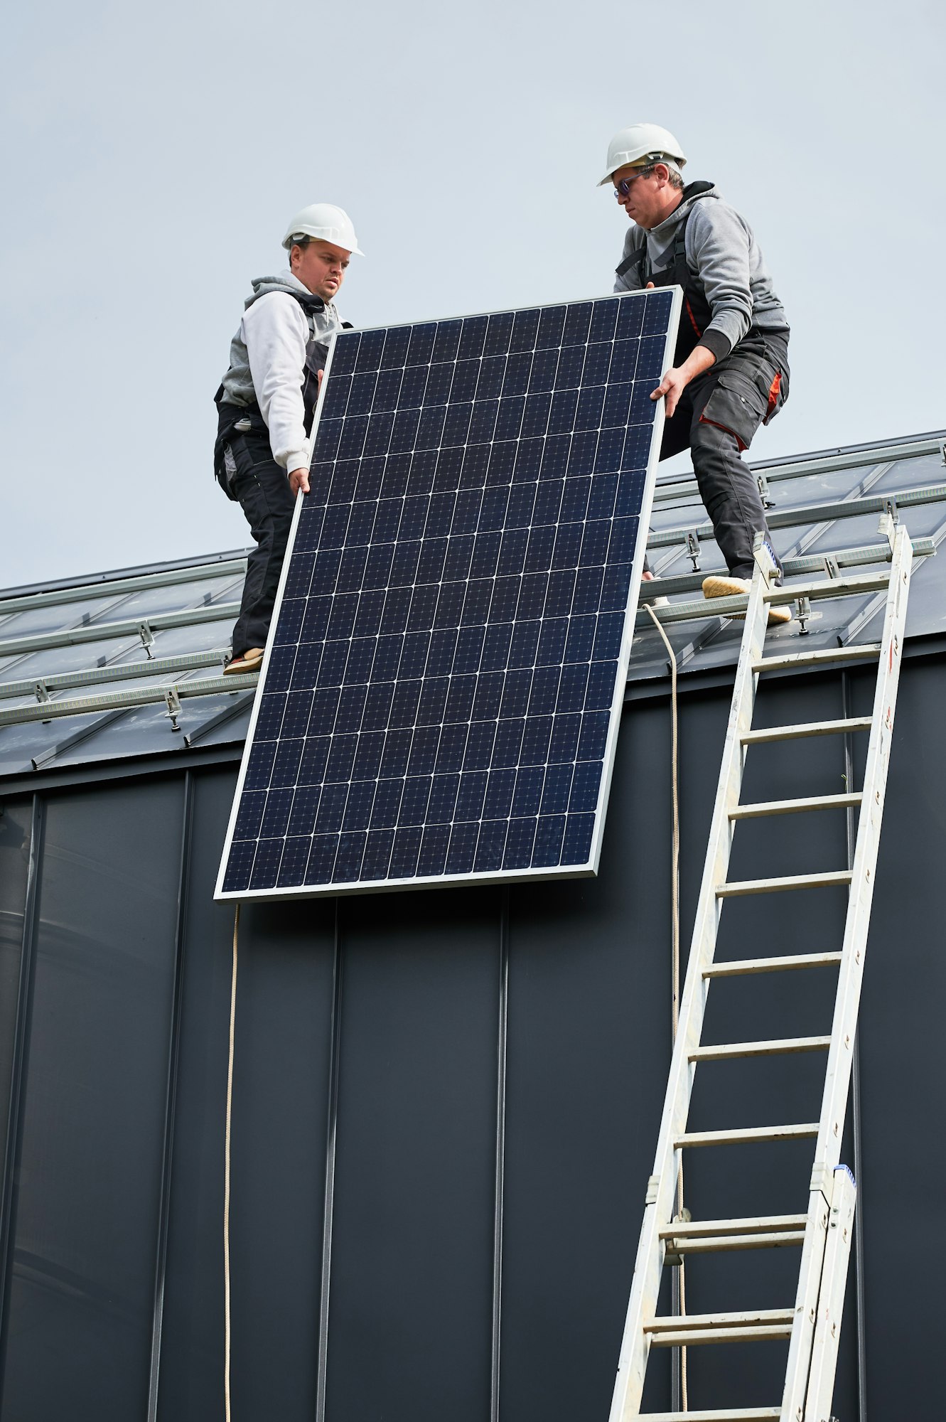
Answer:
[[[692,212],[686,228],[686,264],[699,277],[713,313],[700,336],[716,360],[732,351],[750,326],[763,333],[788,340],[785,311],[776,296],[766,259],[753,229],[716,188],[685,198],[669,218],[646,232],[631,226],[624,240],[624,257],[638,256],[646,245],[648,273],[660,272],[673,263],[673,239],[680,222]],[[646,286],[632,264],[615,280],[615,292],[636,292]]]

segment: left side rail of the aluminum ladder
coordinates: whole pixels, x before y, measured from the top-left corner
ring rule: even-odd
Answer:
[[[716,933],[722,913],[722,900],[716,894],[716,887],[726,879],[733,845],[736,822],[730,819],[730,811],[739,803],[741,789],[743,766],[746,762],[746,748],[741,744],[741,737],[751,725],[753,704],[759,683],[759,673],[753,671],[753,663],[759,661],[766,638],[768,619],[766,599],[768,596],[770,589],[766,577],[761,569],[757,567],[749,594],[746,627],[736,665],[736,681],[723,745],[706,865],[680,997],[676,1044],[670,1059],[663,1115],[660,1118],[653,1159],[653,1173],[648,1182],[643,1223],[641,1226],[631,1298],[621,1341],[618,1375],[611,1399],[611,1412],[608,1413],[609,1422],[628,1422],[628,1419],[639,1416],[649,1352],[649,1335],[645,1334],[643,1325],[656,1315],[665,1254],[665,1243],[660,1240],[659,1231],[670,1223],[673,1214],[679,1172],[679,1156],[675,1150],[675,1140],[683,1133],[686,1126],[693,1089],[696,1064],[690,1062],[689,1057],[699,1045],[703,1028],[706,997],[710,984],[710,978],[703,977],[703,970],[710,966],[716,948]]]

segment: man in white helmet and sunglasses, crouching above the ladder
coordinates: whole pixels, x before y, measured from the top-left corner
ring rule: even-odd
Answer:
[[[652,394],[663,400],[660,458],[689,447],[693,472],[729,576],[705,597],[747,592],[754,535],[768,538],[756,479],[740,455],[788,397],[788,321],[751,228],[710,182],[683,182],[686,156],[666,128],[634,124],[611,139],[608,169],[631,219],[615,292],[683,287],[673,365]],[[771,545],[771,540],[770,540]],[[787,607],[770,621],[787,621]]]

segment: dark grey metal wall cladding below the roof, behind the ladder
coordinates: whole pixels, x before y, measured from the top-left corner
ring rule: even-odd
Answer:
[[[852,710],[869,678],[849,674]],[[908,660],[861,1017],[868,1409],[936,1384],[946,1227],[937,863],[946,668]],[[682,701],[683,921],[692,921],[726,690]],[[841,707],[841,677],[791,678],[759,721]],[[605,1418],[669,1059],[669,717],[632,702],[601,875],[509,894],[500,1416]],[[763,754],[764,752],[764,754]],[[747,795],[839,788],[842,747],[759,748]],[[223,1418],[222,1186],[232,909],[210,900],[236,768],[10,799],[0,818],[0,1111],[14,1165],[0,1300],[3,1422]],[[832,815],[737,836],[734,872],[842,863]],[[30,880],[30,849],[37,873]],[[839,933],[842,897],[727,906],[723,951]],[[791,900],[797,900],[791,903]],[[436,890],[243,912],[233,1113],[234,1416],[317,1416],[332,1004],[338,1121],[325,1345],[328,1422],[490,1416],[503,893]],[[794,929],[790,929],[790,921]],[[30,950],[23,958],[23,944]],[[760,941],[764,940],[764,941]],[[832,940],[834,941],[834,940]],[[21,973],[26,961],[28,971]],[[825,1030],[832,981],[793,974],[773,1034]],[[805,981],[803,981],[805,980]],[[768,984],[771,988],[771,984]],[[760,984],[717,985],[716,1039],[751,1035]],[[17,1003],[26,1020],[17,1030]],[[24,1021],[28,1031],[24,1031]],[[822,1025],[824,1024],[824,1025]],[[749,1030],[747,1030],[749,1028]],[[703,1123],[763,1123],[818,1066],[700,1069]],[[741,1085],[740,1085],[741,1081]],[[817,1109],[817,1101],[815,1101]],[[13,1112],[13,1126],[17,1109]],[[807,1150],[712,1152],[696,1214],[798,1207]],[[849,1158],[849,1152],[848,1152]],[[903,1234],[920,1202],[922,1249]],[[781,1305],[797,1256],[687,1273],[689,1305]],[[834,1411],[857,1416],[854,1284]],[[781,1351],[690,1354],[690,1402],[766,1401]],[[151,1402],[151,1412],[149,1412]],[[669,1402],[656,1359],[648,1404]]]

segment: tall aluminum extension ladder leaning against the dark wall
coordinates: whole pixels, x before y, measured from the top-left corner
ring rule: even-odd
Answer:
[[[693,927],[690,957],[680,1003],[679,1028],[670,1062],[653,1175],[648,1183],[643,1224],[625,1322],[618,1378],[609,1422],[646,1416],[651,1422],[825,1422],[831,1412],[834,1372],[844,1305],[844,1288],[854,1224],[855,1183],[838,1165],[841,1132],[851,1079],[852,1045],[858,1021],[861,975],[871,917],[871,899],[881,833],[881,818],[891,754],[893,710],[903,647],[912,545],[906,529],[888,515],[882,532],[891,543],[891,566],[869,577],[832,579],[805,586],[776,587],[774,563],[761,540],[749,594],[736,684],[723,749],[719,789],[706,855],[706,867]],[[798,597],[844,596],[852,590],[886,589],[886,614],[879,646],[852,646],[788,656],[764,656],[767,606]],[[788,667],[822,667],[866,657],[878,658],[874,712],[864,718],[820,721],[753,731],[753,705],[759,675]],[[822,795],[795,801],[740,805],[746,752],[761,741],[781,741],[831,732],[869,731],[864,789],[861,793]],[[851,789],[848,786],[848,789]],[[736,825],[744,819],[803,809],[859,806],[851,870],[795,875],[781,879],[727,882]],[[815,884],[848,884],[848,910],[841,951],[794,954],[714,963],[719,919],[727,897],[804,889]],[[838,987],[831,1035],[787,1041],[734,1042],[700,1047],[710,983],[749,973],[778,973],[837,967]],[[776,980],[773,980],[776,981]],[[720,991],[723,987],[720,987]],[[700,1061],[764,1057],[778,1052],[827,1049],[828,1064],[815,1123],[773,1125],[753,1129],[720,1129],[687,1133],[693,1078]],[[675,1223],[678,1172],[689,1146],[817,1138],[805,1214]],[[784,1310],[656,1317],[658,1290],[668,1253],[672,1261],[687,1253],[801,1244],[801,1270],[794,1304]],[[788,1362],[781,1402],[768,1406],[723,1408],[692,1412],[641,1412],[648,1354],[653,1347],[713,1342],[750,1342],[783,1338]]]

